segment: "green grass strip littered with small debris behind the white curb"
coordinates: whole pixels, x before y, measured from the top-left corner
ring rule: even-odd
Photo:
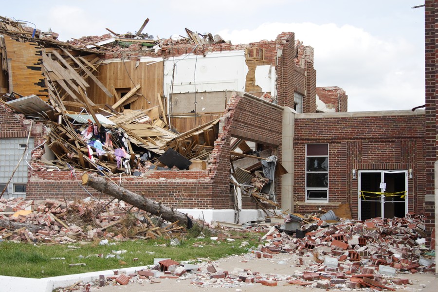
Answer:
[[[197,258],[215,260],[224,256],[246,253],[248,248],[258,244],[256,234],[242,233],[238,234],[238,237],[241,238],[236,238],[232,242],[227,240],[211,240],[209,236],[189,238],[181,240],[177,246],[170,246],[170,239],[164,238],[110,242],[115,243],[115,245],[99,245],[99,241],[66,245],[34,245],[1,241],[0,275],[43,278],[115,270],[151,265],[154,262],[154,258],[157,257],[171,258],[178,262],[196,262]],[[249,245],[242,247],[242,241],[249,242]],[[105,258],[105,256],[112,254],[112,251],[119,250],[126,250],[127,252],[119,255],[120,258]],[[153,252],[155,254],[150,255],[146,252]],[[103,255],[103,257],[92,256],[99,254]],[[59,257],[64,257],[65,259],[52,259]],[[85,263],[86,266],[69,266],[75,263]]]

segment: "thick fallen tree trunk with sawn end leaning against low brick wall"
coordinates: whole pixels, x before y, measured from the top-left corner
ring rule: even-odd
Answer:
[[[161,202],[153,201],[136,193],[133,193],[115,183],[108,182],[103,177],[94,177],[85,173],[82,175],[82,184],[91,186],[93,189],[108,194],[116,199],[125,201],[139,209],[145,210],[152,215],[161,216],[169,222],[176,222],[185,225],[188,229],[192,227],[192,222],[185,214],[163,205]],[[201,226],[200,226],[201,227]]]

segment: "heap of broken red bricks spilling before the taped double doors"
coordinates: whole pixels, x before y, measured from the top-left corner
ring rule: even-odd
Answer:
[[[105,281],[81,285],[156,284],[164,278],[175,278],[190,280],[192,285],[203,288],[244,288],[260,284],[347,291],[411,289],[415,280],[409,274],[435,271],[435,253],[425,247],[422,237],[423,219],[423,216],[412,214],[407,214],[405,218],[346,219],[330,223],[315,219],[316,223],[301,226],[303,231],[311,230],[302,238],[279,232],[275,225],[254,224],[242,232],[264,230],[265,235],[257,248],[248,246],[248,254],[219,261],[193,260],[190,263],[160,258],[154,265],[136,273],[123,277],[114,274],[104,277]],[[220,237],[217,240],[226,239]],[[245,244],[247,242],[242,242],[242,245]],[[230,268],[230,262],[237,266]],[[248,262],[253,264],[247,265]],[[241,266],[238,266],[239,263]],[[281,268],[282,273],[274,271],[286,265],[289,268]],[[267,272],[267,266],[273,270]]]

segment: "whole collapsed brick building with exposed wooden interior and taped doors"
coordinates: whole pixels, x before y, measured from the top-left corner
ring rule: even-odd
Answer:
[[[343,209],[353,219],[426,212],[431,235],[435,87],[426,90],[426,112],[347,112],[345,91],[316,88],[313,48],[293,33],[233,45],[186,32],[186,38],[109,34],[63,43],[42,33],[30,37],[2,18],[0,92],[9,100],[0,105],[0,151],[10,158],[1,162],[9,169],[0,185],[31,132],[29,164],[20,166],[4,197],[100,196],[79,181],[93,171],[206,220],[246,222],[275,209]],[[428,78],[435,84],[435,75]],[[37,105],[47,116],[32,119],[20,95],[46,102],[30,98],[34,111]],[[23,101],[17,112],[10,108],[15,100]],[[67,120],[82,124],[76,134],[104,125],[113,139],[120,135],[114,143],[128,140],[122,164],[116,155],[93,162],[75,132],[59,126]],[[139,153],[146,161],[139,162]],[[276,173],[268,178],[262,164],[273,156]],[[169,160],[189,162],[177,170]]]

